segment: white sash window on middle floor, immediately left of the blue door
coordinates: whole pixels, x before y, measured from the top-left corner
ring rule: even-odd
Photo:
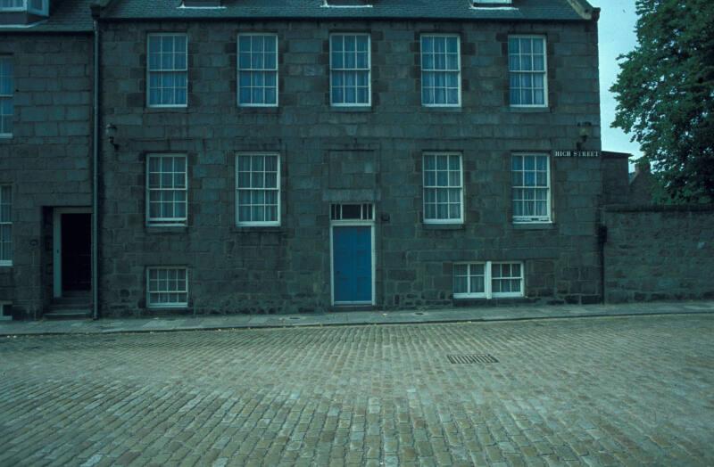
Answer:
[[[280,158],[275,153],[236,156],[237,225],[280,225]]]

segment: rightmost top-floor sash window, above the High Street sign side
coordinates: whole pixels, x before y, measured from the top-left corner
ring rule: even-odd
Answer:
[[[511,106],[546,107],[548,105],[545,50],[545,37],[509,37],[508,69],[511,80]]]

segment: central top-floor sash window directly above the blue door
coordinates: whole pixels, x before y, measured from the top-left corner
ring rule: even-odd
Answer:
[[[369,34],[333,34],[330,49],[330,102],[334,106],[371,104]]]

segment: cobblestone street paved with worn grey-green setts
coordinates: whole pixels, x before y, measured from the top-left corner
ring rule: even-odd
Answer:
[[[0,338],[0,465],[712,465],[712,336],[673,315]]]

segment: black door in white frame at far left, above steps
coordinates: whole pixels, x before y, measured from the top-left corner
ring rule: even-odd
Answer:
[[[62,291],[91,289],[91,219],[91,214],[62,214]]]

